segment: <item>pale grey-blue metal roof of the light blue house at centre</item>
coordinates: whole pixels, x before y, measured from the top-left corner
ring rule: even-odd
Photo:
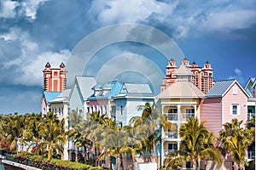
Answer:
[[[115,97],[154,98],[154,94],[148,83],[125,82],[120,93]]]

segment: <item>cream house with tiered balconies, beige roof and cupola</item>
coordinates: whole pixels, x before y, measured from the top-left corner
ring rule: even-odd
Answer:
[[[169,152],[179,150],[181,139],[178,129],[189,117],[201,116],[201,100],[205,96],[193,82],[192,72],[181,65],[176,73],[177,81],[164,89],[157,97],[162,114],[168,117],[174,128],[163,127],[161,139],[161,165]]]

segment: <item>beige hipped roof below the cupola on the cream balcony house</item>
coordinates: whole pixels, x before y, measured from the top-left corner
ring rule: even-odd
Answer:
[[[172,98],[202,98],[205,94],[201,92],[192,82],[177,80],[172,86],[164,89],[158,96],[158,99],[172,99]]]

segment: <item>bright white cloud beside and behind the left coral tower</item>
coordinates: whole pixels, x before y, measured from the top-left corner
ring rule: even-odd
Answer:
[[[5,41],[19,42],[21,52],[15,59],[9,59],[2,63],[7,71],[6,79],[11,74],[9,83],[16,85],[34,86],[42,85],[44,65],[49,62],[53,67],[59,67],[61,62],[66,62],[70,54],[69,50],[63,49],[59,52],[44,51],[38,48],[38,43],[33,42],[26,31],[20,31],[19,28],[13,28],[5,35],[2,35]],[[15,49],[14,49],[15,50]]]

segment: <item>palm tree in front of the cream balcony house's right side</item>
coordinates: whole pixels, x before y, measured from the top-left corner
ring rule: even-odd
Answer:
[[[181,150],[192,162],[193,169],[200,167],[201,158],[209,157],[218,163],[221,161],[218,150],[212,147],[212,133],[204,127],[204,122],[199,122],[198,118],[188,118],[187,123],[181,125],[179,135],[183,139]]]

